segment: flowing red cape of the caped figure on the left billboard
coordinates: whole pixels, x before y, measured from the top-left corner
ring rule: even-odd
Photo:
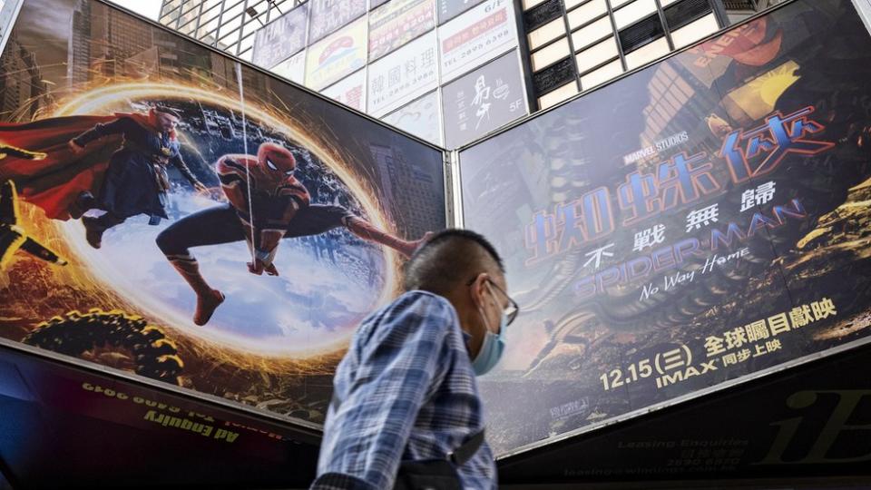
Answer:
[[[44,160],[6,156],[0,160],[0,181],[15,181],[19,197],[42,208],[55,220],[69,220],[78,195],[97,195],[109,158],[118,149],[121,135],[107,136],[75,154],[67,143],[97,123],[112,122],[112,116],[68,116],[24,123],[0,123],[0,144],[30,152],[44,152]]]

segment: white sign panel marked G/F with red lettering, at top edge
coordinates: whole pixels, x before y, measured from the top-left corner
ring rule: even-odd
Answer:
[[[517,45],[514,2],[487,0],[438,29],[442,83]]]

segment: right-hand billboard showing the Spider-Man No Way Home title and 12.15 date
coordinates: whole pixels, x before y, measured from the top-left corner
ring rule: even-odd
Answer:
[[[867,339],[869,41],[789,3],[460,152],[522,311],[498,453]]]

